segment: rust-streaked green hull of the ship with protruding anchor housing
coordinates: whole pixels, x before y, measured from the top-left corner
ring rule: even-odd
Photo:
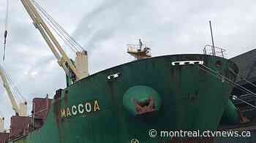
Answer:
[[[176,61],[203,65],[173,64]],[[166,55],[125,63],[58,90],[44,125],[10,142],[177,142],[151,138],[148,131],[217,130],[233,86],[203,66],[233,81],[232,71],[238,72],[233,62],[211,55]]]

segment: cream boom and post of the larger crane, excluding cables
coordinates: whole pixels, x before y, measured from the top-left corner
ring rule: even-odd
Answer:
[[[53,35],[53,33],[50,31],[46,23],[43,21],[42,17],[39,15],[39,12],[37,12],[36,7],[34,7],[31,1],[30,0],[20,0],[20,1],[25,7],[26,12],[29,13],[29,16],[33,20],[34,26],[42,34],[43,38],[45,39],[45,42],[47,42],[48,46],[50,47],[50,50],[53,52],[53,54],[57,58],[59,66],[61,66],[64,69],[67,76],[69,78],[72,78],[72,75],[75,75],[75,81],[80,80],[83,77],[87,77],[88,76],[87,53],[84,51],[77,52],[76,55],[77,55],[77,58],[79,58],[79,60],[78,62],[75,62],[75,63],[78,63],[78,65],[80,65],[80,63],[86,63],[86,65],[83,65],[83,66],[86,66],[86,69],[76,66],[76,64],[73,63],[70,60],[70,58],[68,58],[67,54],[64,52],[61,45],[57,41],[56,37]],[[80,60],[81,58],[84,58],[84,59]],[[79,62],[79,61],[82,61],[82,62]]]

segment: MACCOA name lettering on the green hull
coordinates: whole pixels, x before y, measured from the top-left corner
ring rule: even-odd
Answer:
[[[84,113],[91,113],[99,111],[99,101],[86,101],[83,104],[72,105],[60,110],[61,117],[71,117],[75,115],[82,115]]]

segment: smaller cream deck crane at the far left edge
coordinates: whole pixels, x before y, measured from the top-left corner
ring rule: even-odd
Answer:
[[[23,102],[20,103],[18,106],[17,101],[15,101],[15,90],[17,88],[13,88],[10,84],[11,80],[9,77],[7,77],[7,74],[4,71],[4,68],[0,65],[0,77],[1,80],[3,81],[4,88],[7,90],[7,95],[10,98],[11,104],[12,104],[12,109],[14,110],[16,115],[19,116],[26,116],[26,111],[27,111],[27,102],[24,99]]]

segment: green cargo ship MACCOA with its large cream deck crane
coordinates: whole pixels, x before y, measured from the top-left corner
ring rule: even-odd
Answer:
[[[53,99],[34,98],[31,117],[13,116],[10,133],[1,133],[1,142],[214,142],[148,136],[151,129],[217,130],[238,67],[217,56],[214,46],[213,55],[151,58],[150,48],[140,41],[128,45],[135,61],[89,75],[87,52],[77,52],[75,61],[68,58],[44,20],[70,37],[35,1],[21,2],[67,74],[67,88],[56,90]]]

